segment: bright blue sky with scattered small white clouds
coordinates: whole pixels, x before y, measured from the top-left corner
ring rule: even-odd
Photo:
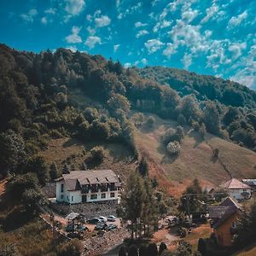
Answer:
[[[1,0],[0,42],[184,68],[256,89],[255,14],[253,0]]]

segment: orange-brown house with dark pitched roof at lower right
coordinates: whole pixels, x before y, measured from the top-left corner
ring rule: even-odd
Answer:
[[[209,207],[209,218],[212,219],[212,228],[219,246],[232,246],[237,219],[241,212],[241,205],[232,197],[226,198],[218,206]]]

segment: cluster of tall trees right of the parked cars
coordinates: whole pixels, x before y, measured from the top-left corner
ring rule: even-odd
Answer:
[[[122,195],[121,215],[131,221],[131,237],[137,238],[150,233],[157,223],[159,209],[154,195],[154,189],[148,178],[141,177],[137,172],[131,172]]]

